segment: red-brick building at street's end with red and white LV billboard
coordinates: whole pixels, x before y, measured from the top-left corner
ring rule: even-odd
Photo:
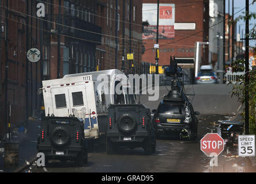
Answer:
[[[156,20],[157,4],[153,0],[144,0],[143,3],[143,21],[148,21],[149,26],[144,27],[145,52],[142,62],[155,64],[156,53],[153,45],[156,43],[156,28],[153,27],[156,24],[152,20]],[[175,56],[179,63],[193,64],[195,42],[207,42],[209,39],[209,2],[161,0],[159,12],[159,65],[169,64],[170,55]],[[167,13],[171,13],[169,17]],[[154,16],[150,17],[150,14]],[[150,25],[151,22],[153,25]],[[208,46],[201,49],[202,63],[208,64]]]

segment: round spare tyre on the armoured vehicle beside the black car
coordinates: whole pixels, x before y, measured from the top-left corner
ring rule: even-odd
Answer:
[[[134,129],[137,127],[137,122],[133,116],[128,113],[123,114],[120,116],[117,122],[119,131],[123,133],[133,132]]]

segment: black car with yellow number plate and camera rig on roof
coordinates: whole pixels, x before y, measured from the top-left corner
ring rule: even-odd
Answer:
[[[182,98],[179,90],[172,90],[160,102],[154,113],[152,123],[157,136],[178,133],[183,139],[197,138],[198,120],[193,106]]]

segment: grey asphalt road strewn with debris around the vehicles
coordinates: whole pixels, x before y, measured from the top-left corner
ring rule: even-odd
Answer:
[[[107,155],[103,144],[95,144],[88,153],[88,164],[76,167],[73,162],[61,163],[52,160],[46,167],[48,172],[85,172],[85,173],[150,173],[150,172],[205,172],[209,168],[209,158],[200,150],[199,140],[209,132],[216,132],[218,121],[226,120],[237,113],[240,106],[235,98],[231,98],[229,91],[232,86],[227,85],[193,85],[186,86],[187,94],[191,96],[194,110],[200,112],[198,116],[198,139],[195,141],[179,140],[175,136],[157,139],[156,153],[144,155],[142,148],[130,150],[121,148],[113,155]],[[156,109],[161,97],[167,93],[165,86],[160,87],[160,99],[148,101],[146,95],[140,100],[148,108]],[[27,170],[28,171],[28,170]],[[43,168],[32,167],[29,171],[45,172]]]

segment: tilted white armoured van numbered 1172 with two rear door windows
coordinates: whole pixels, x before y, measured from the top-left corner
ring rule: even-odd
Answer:
[[[46,116],[82,118],[85,138],[99,138],[107,129],[108,106],[134,103],[134,95],[127,95],[129,81],[123,82],[122,74],[114,69],[69,74],[62,79],[43,81]],[[115,87],[121,81],[122,94],[115,94]]]

